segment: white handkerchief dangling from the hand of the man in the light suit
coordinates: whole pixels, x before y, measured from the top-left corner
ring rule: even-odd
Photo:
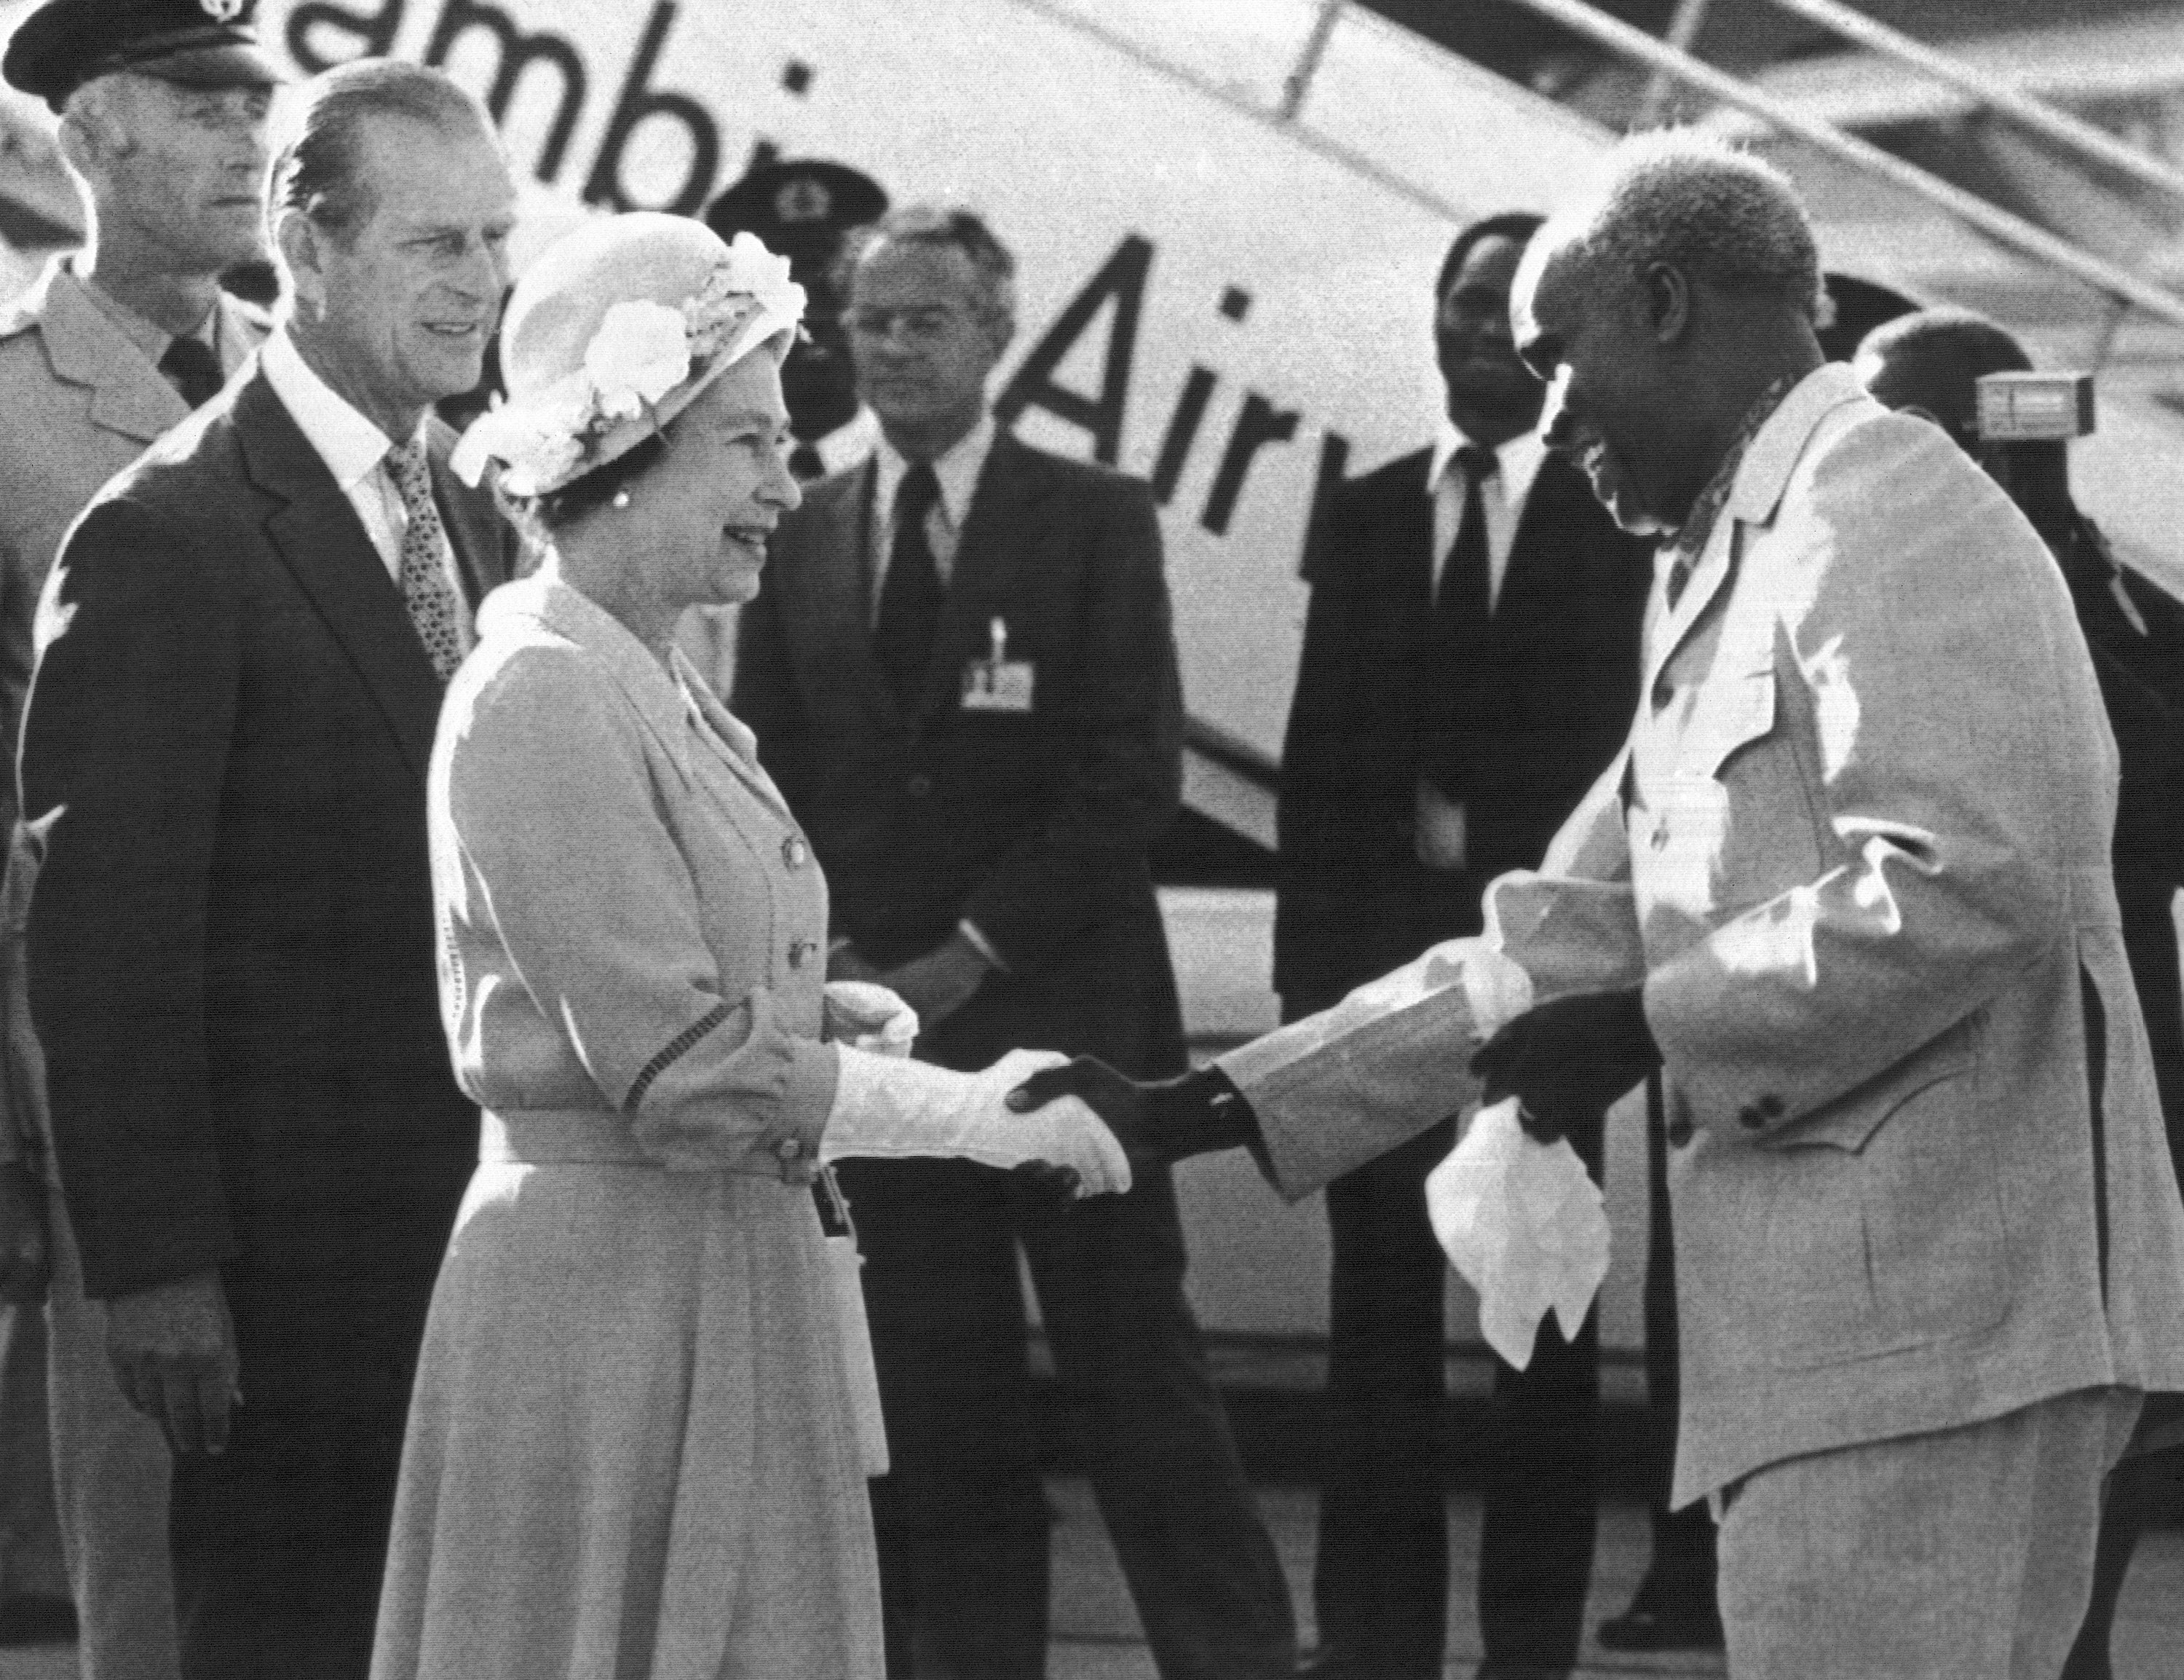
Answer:
[[[1601,1186],[1570,1149],[1524,1136],[1516,1099],[1479,1110],[1426,1175],[1426,1215],[1450,1265],[1479,1291],[1479,1328],[1518,1370],[1553,1306],[1575,1337],[1607,1276]]]

